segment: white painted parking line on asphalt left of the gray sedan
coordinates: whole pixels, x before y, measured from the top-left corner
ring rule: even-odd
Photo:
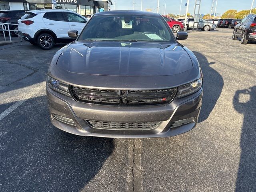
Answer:
[[[22,103],[24,103],[26,100],[31,98],[34,94],[36,94],[38,91],[45,88],[45,82],[43,82],[42,85],[40,85],[38,88],[34,89],[32,92],[26,94],[23,98],[18,100],[16,103],[14,103],[12,106],[10,106],[8,109],[6,109],[4,112],[0,114],[0,121],[5,118],[8,114],[10,114],[12,111],[14,111],[18,106],[20,106]]]

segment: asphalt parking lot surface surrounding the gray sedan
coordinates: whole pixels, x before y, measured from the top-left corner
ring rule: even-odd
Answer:
[[[196,128],[171,138],[81,137],[50,123],[45,80],[55,52],[0,46],[0,191],[256,191],[256,42],[232,29],[181,40],[204,74]]]

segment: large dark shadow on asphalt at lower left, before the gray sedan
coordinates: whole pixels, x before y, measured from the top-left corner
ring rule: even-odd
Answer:
[[[27,100],[0,127],[0,191],[80,191],[114,150],[112,138],[52,126],[46,96]]]

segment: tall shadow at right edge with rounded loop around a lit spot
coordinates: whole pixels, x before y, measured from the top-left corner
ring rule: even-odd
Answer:
[[[240,101],[245,95],[249,99],[246,102]],[[244,115],[236,191],[256,191],[256,86],[245,90],[237,90],[233,99],[233,105],[237,112]]]

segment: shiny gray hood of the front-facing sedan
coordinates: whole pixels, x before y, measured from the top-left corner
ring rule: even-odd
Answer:
[[[108,76],[167,76],[193,68],[178,43],[73,42],[56,64],[72,73]]]

